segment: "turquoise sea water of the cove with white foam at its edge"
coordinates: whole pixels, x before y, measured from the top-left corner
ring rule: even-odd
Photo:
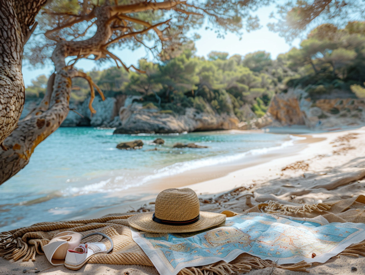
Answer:
[[[0,232],[59,221],[120,204],[113,192],[210,165],[237,164],[247,156],[293,145],[286,134],[237,131],[113,135],[112,129],[60,128],[35,149],[29,164],[0,186]],[[155,138],[165,144],[151,144]],[[142,149],[119,150],[141,139]],[[172,148],[176,142],[208,148]]]

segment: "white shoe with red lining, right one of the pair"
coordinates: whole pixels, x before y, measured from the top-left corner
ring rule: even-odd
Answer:
[[[107,247],[102,242],[87,242],[86,244],[80,244],[78,247],[67,251],[65,267],[72,270],[78,270],[87,263],[91,257],[105,252],[107,252]]]

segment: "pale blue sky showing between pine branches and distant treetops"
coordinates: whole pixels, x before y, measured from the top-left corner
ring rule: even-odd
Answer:
[[[245,32],[241,41],[239,40],[239,37],[234,34],[227,34],[225,38],[222,39],[216,38],[214,31],[204,30],[204,27],[201,28],[201,30],[197,30],[196,32],[200,34],[201,38],[195,42],[197,49],[196,54],[198,56],[207,57],[207,54],[211,51],[225,51],[229,53],[229,56],[234,54],[244,56],[247,53],[265,50],[271,53],[271,57],[274,59],[278,56],[278,54],[287,52],[291,49],[291,47],[297,47],[300,42],[299,39],[296,39],[292,42],[292,45],[289,45],[285,42],[284,38],[279,37],[277,33],[269,31],[268,27],[266,27],[266,24],[272,20],[269,19],[269,15],[274,8],[275,7],[272,5],[259,9],[257,14],[260,18],[262,28],[250,33]],[[119,56],[124,64],[128,66],[132,64],[137,65],[137,60],[146,56],[146,51],[143,47],[135,51],[114,50],[113,53]],[[92,68],[105,69],[111,66],[115,66],[114,61],[106,62],[101,67],[96,67],[95,62],[91,60],[82,60],[77,63],[77,68],[82,68],[84,71],[89,71]],[[53,66],[45,66],[42,69],[34,69],[24,64],[23,77],[26,87],[31,84],[32,79],[35,79],[37,76],[42,74],[49,76],[53,70]]]

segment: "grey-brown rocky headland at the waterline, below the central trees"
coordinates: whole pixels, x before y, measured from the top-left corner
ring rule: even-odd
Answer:
[[[187,108],[185,115],[176,115],[169,111],[146,109],[137,103],[122,107],[119,118],[122,126],[118,127],[114,134],[228,130],[238,129],[239,123],[237,117],[228,114],[198,113],[194,108]]]

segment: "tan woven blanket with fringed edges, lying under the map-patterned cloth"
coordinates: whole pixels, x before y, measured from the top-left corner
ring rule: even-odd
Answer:
[[[333,203],[319,203],[316,205],[287,206],[277,202],[260,203],[245,213],[269,213],[274,215],[286,215],[297,218],[315,218],[321,215],[328,222],[353,222],[365,224],[365,196],[360,195]],[[223,211],[227,217],[236,217],[239,213]],[[248,214],[249,216],[251,214]],[[260,214],[253,214],[260,215]],[[92,257],[88,263],[99,264],[140,264],[154,266],[146,253],[132,238],[132,232],[128,226],[127,218],[131,215],[112,215],[97,219],[63,222],[42,222],[27,228],[20,228],[0,233],[0,256],[8,260],[36,260],[37,254],[43,253],[43,245],[62,231],[79,232],[87,235],[92,232],[102,232],[110,236],[114,242],[114,249],[110,254],[99,254]],[[361,228],[361,226],[360,226]],[[107,248],[110,243],[102,240],[101,236],[94,235],[84,239],[87,241],[103,241]],[[249,251],[247,251],[249,252]],[[268,258],[260,258],[242,251],[229,263],[216,260],[215,263],[204,266],[184,267],[179,274],[185,275],[224,275],[233,272],[248,272],[252,268],[277,267],[295,271],[306,271],[311,266],[309,262],[301,261],[291,264],[276,264]],[[341,255],[365,256],[365,241],[344,248]],[[44,256],[43,256],[44,257]]]

